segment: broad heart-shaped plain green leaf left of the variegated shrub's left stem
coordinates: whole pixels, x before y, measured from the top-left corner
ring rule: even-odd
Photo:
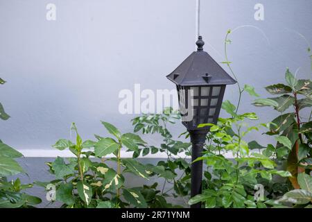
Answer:
[[[75,173],[76,162],[66,164],[64,158],[57,157],[52,163],[52,169],[55,173],[56,179],[62,179],[64,176]]]

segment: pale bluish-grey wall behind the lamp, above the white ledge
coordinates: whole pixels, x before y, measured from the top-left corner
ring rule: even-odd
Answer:
[[[46,20],[48,3],[57,7],[55,21]],[[254,19],[256,3],[263,3],[264,21]],[[0,76],[8,81],[0,101],[12,117],[0,122],[1,139],[44,155],[35,149],[69,138],[73,121],[84,139],[106,134],[100,120],[131,131],[133,115],[118,113],[119,91],[135,83],[174,88],[165,76],[195,48],[195,6],[190,0],[0,0]],[[259,27],[269,44],[257,28],[241,28],[230,37],[229,60],[242,85],[268,96],[263,87],[283,82],[286,67],[311,78],[307,43],[295,33],[311,43],[311,8],[309,0],[202,0],[205,50],[221,62],[227,29]],[[225,99],[235,103],[236,92],[228,87]],[[242,112],[256,111],[262,122],[278,114],[251,101],[243,98]],[[257,134],[249,139],[270,141]]]

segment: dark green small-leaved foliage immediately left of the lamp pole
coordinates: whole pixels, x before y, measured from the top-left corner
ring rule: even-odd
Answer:
[[[170,204],[164,204],[166,201],[162,196],[173,198],[180,197],[183,198],[185,203],[187,203],[187,200],[185,200],[184,197],[188,196],[190,193],[191,168],[186,157],[191,155],[191,144],[173,139],[173,135],[171,135],[168,130],[168,125],[174,124],[175,121],[179,119],[180,114],[173,111],[172,108],[166,108],[162,114],[143,114],[132,119],[132,124],[135,126],[135,132],[140,131],[143,134],[159,134],[162,136],[162,144],[160,144],[160,146],[149,146],[148,144],[144,144],[144,146],[139,148],[138,152],[134,153],[134,157],[137,157],[140,154],[144,156],[148,153],[165,153],[166,161],[159,161],[155,167],[150,166],[150,164],[146,167],[148,171],[153,172],[150,176],[156,175],[160,178],[164,178],[164,187],[166,184],[173,185],[173,188],[168,190],[165,190],[163,187],[162,191],[154,191],[156,194],[159,193],[160,196],[156,195],[155,198],[157,198],[157,200],[155,201],[157,203],[153,201],[153,203],[150,203],[151,207],[155,206],[155,204],[159,207],[172,207]],[[182,135],[187,135],[187,133],[182,133]],[[182,158],[180,155],[184,155],[185,157]],[[177,177],[179,172],[181,176]]]

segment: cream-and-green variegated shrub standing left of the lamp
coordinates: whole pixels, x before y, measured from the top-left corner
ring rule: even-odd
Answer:
[[[56,200],[63,203],[62,207],[78,208],[168,206],[163,196],[157,195],[157,186],[125,187],[124,175],[132,173],[146,181],[156,174],[171,179],[175,175],[162,165],[144,165],[135,158],[121,159],[121,148],[137,153],[149,147],[139,135],[122,134],[111,123],[101,123],[113,138],[96,135],[96,142],[83,141],[73,123],[71,129],[76,132],[76,143],[60,139],[53,145],[59,150],[68,148],[76,156],[67,159],[57,157],[54,162],[46,163],[50,168],[49,172],[55,175],[56,180],[49,183],[55,185]],[[155,148],[151,149],[155,153]],[[115,164],[116,170],[113,168]],[[37,184],[46,187],[49,183]],[[150,200],[152,193],[155,194],[155,199]]]

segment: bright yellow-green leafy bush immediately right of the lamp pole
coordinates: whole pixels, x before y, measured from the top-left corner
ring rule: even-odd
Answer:
[[[236,107],[226,102],[223,106],[229,114],[233,114]],[[228,107],[232,107],[229,110]],[[247,120],[255,120],[254,113],[235,114],[234,117],[219,118],[218,124],[209,124],[210,133],[207,136],[206,151],[195,161],[203,160],[207,164],[205,171],[204,189],[202,194],[194,196],[189,204],[203,203],[207,208],[235,207],[261,208],[277,207],[279,203],[272,203],[277,198],[272,189],[273,176],[288,177],[288,171],[275,169],[276,163],[268,155],[266,149],[257,142],[245,142],[244,137],[259,128],[268,128],[269,124],[248,126]],[[203,124],[205,125],[205,124]],[[253,152],[254,149],[259,151]],[[268,146],[270,151],[275,148]],[[228,160],[225,155],[232,153],[234,160]],[[265,184],[266,191],[270,191],[263,200],[255,200],[254,186]]]

